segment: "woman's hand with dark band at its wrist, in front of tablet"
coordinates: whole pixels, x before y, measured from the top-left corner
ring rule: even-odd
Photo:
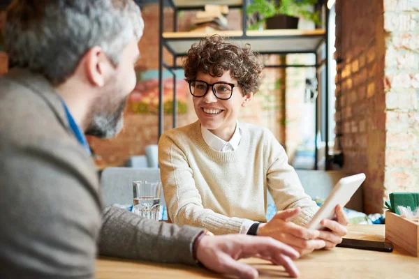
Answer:
[[[317,229],[306,229],[289,220],[298,213],[300,213],[300,208],[278,211],[268,223],[259,225],[258,236],[271,236],[293,247],[300,252],[300,255],[324,248],[325,241],[318,239],[321,232]]]

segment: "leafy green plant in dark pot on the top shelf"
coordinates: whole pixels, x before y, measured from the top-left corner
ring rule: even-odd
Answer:
[[[256,15],[256,20],[249,29],[296,29],[298,18],[303,17],[315,24],[321,24],[318,12],[310,8],[317,0],[254,0],[247,7],[247,15]]]

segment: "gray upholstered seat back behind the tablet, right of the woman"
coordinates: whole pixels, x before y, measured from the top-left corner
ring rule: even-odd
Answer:
[[[296,169],[298,177],[300,178],[302,187],[305,193],[311,198],[326,199],[333,187],[336,185],[339,179],[349,176],[346,172],[340,170],[300,170]],[[267,203],[274,203],[272,197],[268,193]],[[355,194],[352,196],[351,201],[345,206],[348,209],[363,212],[363,198],[362,198],[362,187],[360,187]]]

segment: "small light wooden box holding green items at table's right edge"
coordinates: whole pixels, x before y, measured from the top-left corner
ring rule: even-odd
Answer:
[[[385,240],[419,257],[419,223],[385,211]]]

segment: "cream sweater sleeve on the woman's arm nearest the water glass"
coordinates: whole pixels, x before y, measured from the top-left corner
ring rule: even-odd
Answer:
[[[159,141],[159,165],[168,216],[179,226],[203,227],[214,234],[238,234],[248,219],[227,217],[203,207],[186,154],[168,135]]]

